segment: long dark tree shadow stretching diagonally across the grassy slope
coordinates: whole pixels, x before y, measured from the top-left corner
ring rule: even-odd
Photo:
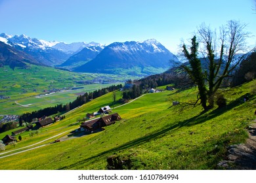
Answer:
[[[179,129],[181,127],[202,124],[203,122],[205,122],[207,120],[211,120],[217,116],[224,114],[225,112],[227,112],[228,110],[231,110],[234,107],[238,107],[239,105],[242,105],[242,103],[244,103],[244,96],[245,95],[236,99],[235,101],[232,101],[231,103],[226,105],[226,107],[216,108],[215,110],[209,112],[209,114],[205,114],[204,112],[202,112],[199,115],[194,116],[193,118],[183,120],[182,122],[178,122],[177,124],[174,124],[171,126],[166,125],[165,127],[163,127],[163,129],[161,131],[157,131],[155,133],[154,132],[150,133],[144,137],[140,137],[139,139],[135,139],[133,141],[130,141],[130,142],[127,142],[120,146],[117,146],[116,148],[112,148],[110,150],[106,150],[99,154],[95,154],[95,156],[91,156],[90,158],[80,159],[79,162],[75,162],[72,165],[69,165],[68,167],[61,167],[60,169],[69,169],[72,167],[77,167],[77,165],[83,165],[84,162],[90,161],[91,159],[100,158],[101,156],[106,156],[107,154],[114,154],[115,152],[119,152],[119,151],[125,150],[127,148],[139,146],[140,144],[143,144],[145,142],[159,139],[159,138],[165,136],[165,133],[175,130],[175,129]]]

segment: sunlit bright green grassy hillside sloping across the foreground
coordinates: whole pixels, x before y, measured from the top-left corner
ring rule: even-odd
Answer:
[[[171,104],[195,99],[194,89],[148,93],[114,108],[123,120],[104,131],[2,158],[0,169],[106,169],[108,157],[118,157],[127,169],[217,169],[226,147],[247,138],[245,128],[255,119],[255,86],[253,80],[224,91],[228,105],[205,113],[200,106],[181,110]],[[245,95],[248,102],[244,102]],[[30,137],[26,132],[24,140],[6,152],[72,131],[87,112],[112,101],[112,93],[108,93],[69,112],[65,120],[43,128],[39,135]]]

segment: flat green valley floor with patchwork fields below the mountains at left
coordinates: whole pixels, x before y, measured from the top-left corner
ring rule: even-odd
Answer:
[[[133,76],[71,73],[35,65],[30,65],[29,69],[16,67],[14,70],[1,67],[0,74],[0,95],[3,96],[0,99],[0,114],[23,114],[66,104],[74,101],[79,94],[134,79]]]

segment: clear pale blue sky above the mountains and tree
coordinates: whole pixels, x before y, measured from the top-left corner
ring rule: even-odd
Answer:
[[[156,39],[177,52],[205,22],[247,24],[256,35],[254,0],[0,0],[0,33],[46,41],[112,42]],[[252,37],[249,44],[256,44]]]

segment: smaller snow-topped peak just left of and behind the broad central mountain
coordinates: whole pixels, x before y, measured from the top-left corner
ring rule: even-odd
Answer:
[[[72,69],[74,67],[83,65],[88,61],[91,61],[91,59],[94,59],[103,50],[104,47],[105,46],[86,46],[83,48],[83,50],[71,56],[67,61],[61,65],[58,65],[58,67],[67,67],[68,69]]]

